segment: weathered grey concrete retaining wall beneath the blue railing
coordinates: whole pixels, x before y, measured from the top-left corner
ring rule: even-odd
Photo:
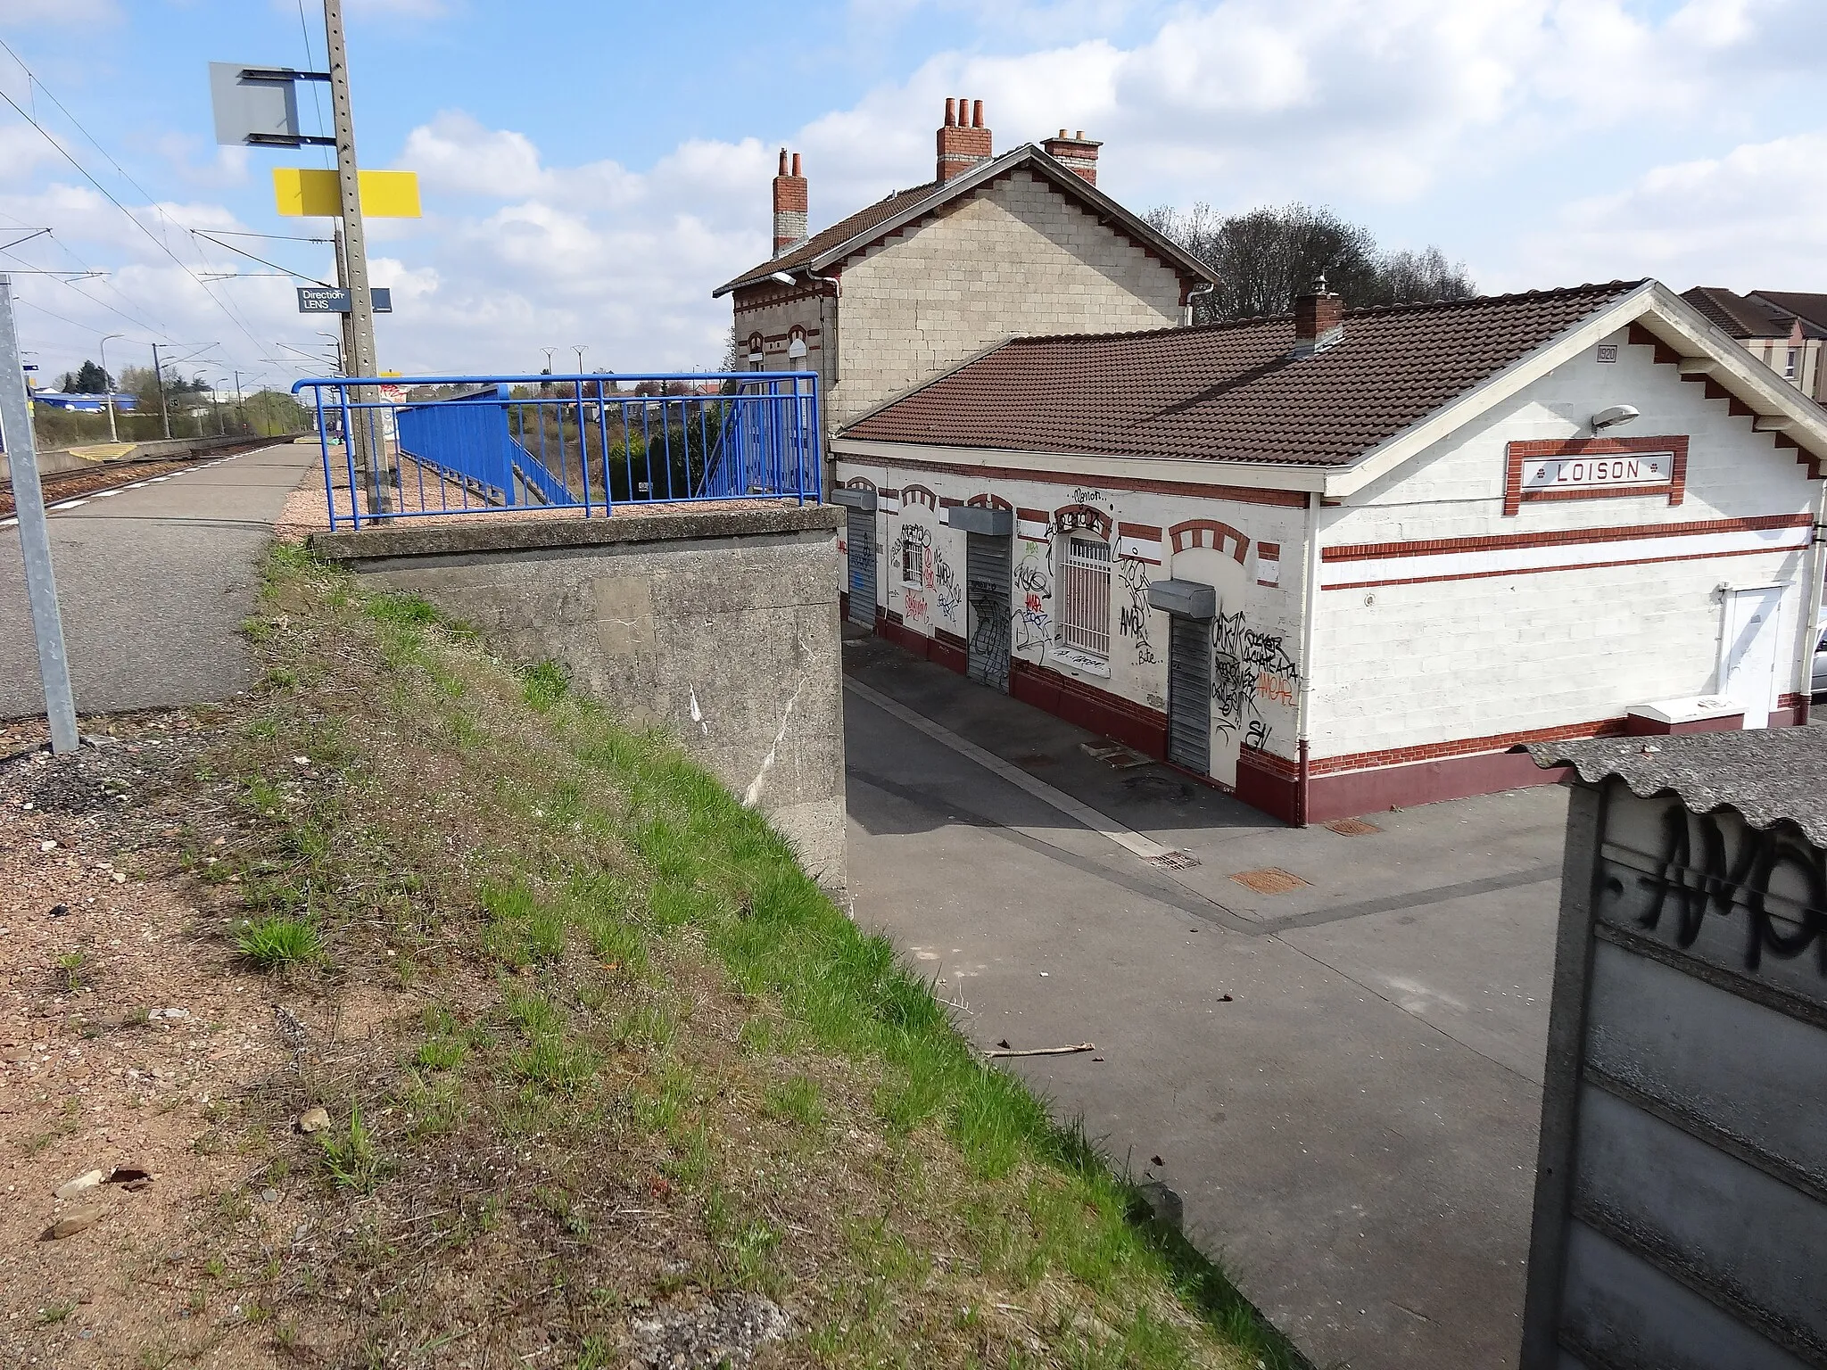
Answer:
[[[312,548],[554,659],[630,727],[661,725],[844,884],[837,530],[829,506],[462,521]]]

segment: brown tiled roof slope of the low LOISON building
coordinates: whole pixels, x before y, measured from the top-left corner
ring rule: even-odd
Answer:
[[[1292,316],[1016,338],[842,437],[1341,466],[1639,285],[1348,311],[1345,340],[1303,360]]]

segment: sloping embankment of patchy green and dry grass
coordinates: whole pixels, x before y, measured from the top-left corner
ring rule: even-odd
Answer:
[[[756,1365],[1295,1363],[665,738],[296,550],[248,634],[254,837],[195,868],[345,1023],[269,1100],[331,1114],[269,1162],[327,1237],[241,1257],[278,1341],[623,1366],[766,1299]]]

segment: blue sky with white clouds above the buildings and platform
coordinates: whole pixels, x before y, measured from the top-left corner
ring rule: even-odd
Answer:
[[[930,179],[945,95],[985,100],[998,150],[1105,139],[1100,183],[1135,208],[1332,205],[1489,290],[1827,290],[1822,0],[347,9],[362,161],[418,170],[426,205],[371,225],[389,369],[537,369],[579,343],[621,371],[713,365],[709,292],[766,256],[775,150],[804,152],[829,223]],[[102,332],[128,334],[111,360],[157,338],[272,384],[314,369],[289,351],[322,349],[292,283],[208,279],[263,269],[188,232],[325,230],[270,195],[272,166],[323,153],[210,133],[206,62],[305,66],[307,33],[322,66],[322,0],[303,26],[300,0],[0,0],[24,62],[0,53],[0,90],[124,206],[0,104],[0,228],[55,230],[0,269],[108,272],[15,276],[46,371]],[[230,241],[329,272],[318,245]]]

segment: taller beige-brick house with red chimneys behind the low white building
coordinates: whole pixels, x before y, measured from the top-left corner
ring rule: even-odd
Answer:
[[[835,429],[1018,334],[1189,321],[1208,269],[1098,190],[1102,144],[990,142],[983,100],[948,99],[934,179],[817,234],[782,148],[775,252],[714,290],[744,365],[817,371]]]

